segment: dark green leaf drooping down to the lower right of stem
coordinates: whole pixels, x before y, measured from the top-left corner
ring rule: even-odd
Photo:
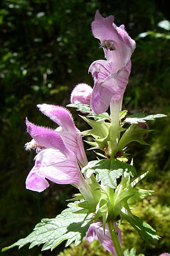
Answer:
[[[122,207],[120,215],[122,219],[127,220],[130,225],[138,231],[139,236],[144,239],[147,245],[149,245],[150,240],[153,242],[158,241],[159,236],[156,234],[156,230],[154,230],[153,227],[151,227],[145,221],[133,215],[124,207]]]

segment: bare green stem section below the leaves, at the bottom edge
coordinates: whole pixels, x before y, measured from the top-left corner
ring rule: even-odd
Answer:
[[[113,241],[113,245],[114,245],[114,248],[116,250],[117,256],[123,256],[122,247],[119,243],[119,239],[117,237],[117,233],[116,233],[116,229],[115,229],[113,221],[108,222],[108,227],[109,227],[109,231],[110,231],[110,234],[111,234],[111,239]]]

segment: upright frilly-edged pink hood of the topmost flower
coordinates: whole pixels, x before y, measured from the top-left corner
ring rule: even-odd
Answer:
[[[113,15],[104,18],[97,11],[95,20],[92,22],[92,32],[94,37],[100,40],[105,57],[107,61],[112,61],[113,73],[116,73],[129,62],[136,44],[125,31],[125,26],[117,27],[113,20]],[[112,42],[114,50],[104,48],[105,42],[108,41]]]

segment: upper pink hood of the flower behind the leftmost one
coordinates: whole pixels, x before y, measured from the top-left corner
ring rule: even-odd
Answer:
[[[71,113],[66,108],[50,104],[39,104],[37,105],[37,107],[43,114],[45,114],[45,116],[48,116],[51,120],[61,126],[65,131],[79,131],[74,125]]]

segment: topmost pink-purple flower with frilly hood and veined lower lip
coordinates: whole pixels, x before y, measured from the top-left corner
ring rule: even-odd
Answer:
[[[107,59],[94,61],[89,67],[94,77],[91,109],[96,114],[106,111],[111,100],[121,100],[130,75],[130,57],[136,45],[125,26],[117,27],[113,19],[112,15],[104,18],[97,11],[92,22],[93,35],[100,40]]]

